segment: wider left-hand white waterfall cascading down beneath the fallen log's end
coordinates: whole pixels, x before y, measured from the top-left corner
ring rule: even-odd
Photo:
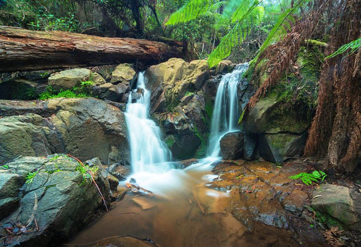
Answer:
[[[144,85],[144,72],[139,73],[136,88],[130,92],[125,113],[133,172],[166,171],[170,168],[166,162],[171,160],[171,151],[162,142],[160,128],[149,118],[150,92]]]

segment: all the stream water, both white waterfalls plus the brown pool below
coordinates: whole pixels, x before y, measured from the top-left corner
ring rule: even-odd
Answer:
[[[133,168],[130,178],[154,196],[128,193],[67,245],[267,246],[274,242],[271,235],[278,236],[274,246],[289,245],[285,231],[272,227],[255,224],[257,235],[247,234],[247,227],[226,211],[231,200],[229,192],[207,188],[217,177],[211,172],[211,164],[221,159],[219,140],[225,133],[237,130],[237,84],[246,68],[247,64],[240,65],[223,76],[213,113],[210,155],[185,169],[173,169],[173,163],[167,162],[171,154],[161,141],[159,127],[149,118],[150,93],[140,73],[137,87],[144,93],[139,97],[136,92],[140,89],[132,92],[137,97],[130,96],[126,113]]]

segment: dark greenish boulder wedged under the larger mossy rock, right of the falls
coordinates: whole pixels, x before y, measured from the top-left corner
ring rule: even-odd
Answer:
[[[282,162],[291,157],[299,157],[303,154],[307,139],[304,134],[260,134],[260,155],[272,162]]]

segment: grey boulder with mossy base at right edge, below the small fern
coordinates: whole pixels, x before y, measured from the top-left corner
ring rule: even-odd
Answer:
[[[322,184],[313,193],[311,206],[324,215],[334,218],[342,226],[350,229],[361,229],[361,195],[347,187]],[[337,224],[328,220],[326,223]],[[329,226],[330,227],[330,226]]]

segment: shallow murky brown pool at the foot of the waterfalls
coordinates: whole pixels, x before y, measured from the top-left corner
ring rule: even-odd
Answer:
[[[249,233],[247,227],[227,211],[228,194],[207,188],[204,176],[210,175],[210,168],[188,167],[172,171],[163,185],[159,178],[156,179],[158,188],[153,189],[162,191],[161,186],[164,186],[163,196],[128,193],[66,245],[297,246],[284,230],[278,228],[255,224],[254,232]],[[175,189],[172,181],[181,182],[182,186]]]

